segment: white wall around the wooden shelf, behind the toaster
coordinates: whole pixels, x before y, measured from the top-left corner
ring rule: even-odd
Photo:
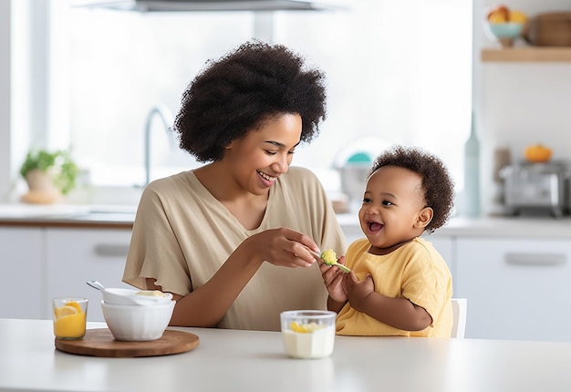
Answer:
[[[571,160],[571,63],[482,63],[480,51],[494,46],[483,33],[483,10],[494,0],[474,1],[474,107],[483,145],[483,212],[497,209],[493,201],[493,152],[510,150],[512,160],[524,158],[524,147],[542,143],[555,160]],[[568,0],[510,0],[505,5],[534,16],[571,11]],[[516,45],[524,45],[519,41]]]

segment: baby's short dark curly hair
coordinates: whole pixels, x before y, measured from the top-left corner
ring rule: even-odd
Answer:
[[[426,232],[434,232],[452,216],[454,182],[444,163],[434,154],[416,147],[393,146],[374,161],[367,178],[383,166],[398,166],[420,174],[427,206],[434,211]]]

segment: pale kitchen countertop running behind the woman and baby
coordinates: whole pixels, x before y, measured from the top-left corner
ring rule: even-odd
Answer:
[[[0,204],[0,226],[130,229],[136,211],[136,205]],[[338,214],[337,220],[348,237],[362,236],[357,212]],[[453,217],[445,226],[428,236],[571,239],[571,217]]]

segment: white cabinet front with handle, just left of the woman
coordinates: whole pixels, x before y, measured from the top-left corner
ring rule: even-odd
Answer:
[[[121,282],[130,230],[48,228],[46,238],[47,300],[57,296],[87,297],[88,321],[104,321],[101,294],[86,282],[97,280],[108,287],[132,288]],[[49,309],[48,302],[45,307]]]

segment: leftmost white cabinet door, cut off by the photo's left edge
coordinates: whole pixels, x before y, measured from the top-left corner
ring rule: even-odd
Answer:
[[[40,228],[0,227],[0,318],[43,315],[43,246]]]

